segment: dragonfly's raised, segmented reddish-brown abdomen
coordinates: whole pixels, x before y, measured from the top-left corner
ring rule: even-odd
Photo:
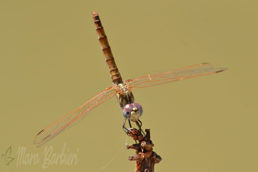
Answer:
[[[105,56],[107,65],[108,65],[108,69],[109,69],[109,73],[110,73],[112,82],[113,82],[113,84],[121,84],[121,83],[123,83],[122,77],[116,66],[115,59],[111,52],[111,48],[108,44],[107,36],[104,32],[104,28],[99,19],[99,14],[97,12],[94,12],[92,14],[93,14],[94,24],[95,24],[96,31],[98,34],[99,42],[100,42],[103,54]]]

